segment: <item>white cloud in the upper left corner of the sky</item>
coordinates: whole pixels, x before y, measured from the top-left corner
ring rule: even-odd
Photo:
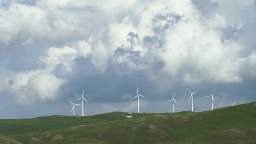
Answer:
[[[33,37],[46,37],[50,31],[47,11],[39,7],[12,2],[8,9],[0,12],[0,42],[6,45],[20,45]],[[39,26],[40,25],[40,26]]]

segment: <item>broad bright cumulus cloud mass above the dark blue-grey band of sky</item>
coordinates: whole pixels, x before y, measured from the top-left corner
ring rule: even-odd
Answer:
[[[30,70],[2,68],[1,91],[14,91],[15,98],[57,98],[79,58],[99,75],[143,71],[155,83],[161,83],[157,77],[188,85],[256,78],[255,40],[247,39],[254,33],[246,32],[255,27],[252,0],[1,3],[0,50],[37,49],[32,43],[38,41],[51,45],[35,50],[40,56]],[[59,76],[57,68],[67,74]]]

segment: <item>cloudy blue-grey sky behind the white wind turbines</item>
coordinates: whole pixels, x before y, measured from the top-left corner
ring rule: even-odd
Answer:
[[[0,0],[0,119],[256,101],[255,0]],[[76,106],[81,115],[82,106]]]

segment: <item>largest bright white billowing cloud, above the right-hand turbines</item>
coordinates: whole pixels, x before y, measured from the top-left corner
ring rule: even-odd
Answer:
[[[228,4],[228,3],[221,3]],[[162,11],[176,10],[175,13],[181,15],[180,21],[175,23],[173,27],[166,28],[163,33],[160,34],[161,40],[163,40],[163,46],[161,48],[148,47],[146,49],[140,49],[138,52],[145,53],[145,51],[153,55],[146,56],[161,60],[164,62],[163,71],[176,78],[182,78],[185,83],[239,83],[243,82],[245,75],[241,73],[243,68],[243,62],[240,58],[240,53],[243,52],[244,45],[232,40],[223,40],[223,29],[232,25],[234,21],[243,24],[242,19],[233,19],[232,21],[226,21],[225,16],[229,16],[227,13],[216,13],[215,15],[209,15],[206,21],[199,19],[201,14],[197,12],[193,4],[189,1],[186,3],[174,3],[163,6],[162,3],[156,2],[153,6],[148,5],[143,12],[141,12],[140,23],[137,27],[138,37],[144,36],[158,36],[153,33],[152,17],[155,14],[162,14]],[[237,5],[238,6],[238,5]],[[242,5],[241,9],[243,9]],[[153,8],[154,10],[152,10]],[[189,7],[184,11],[180,11],[181,7]],[[224,7],[219,7],[224,10]],[[170,10],[169,10],[170,9]],[[182,9],[183,10],[183,9]],[[235,8],[232,10],[235,10]],[[251,10],[251,9],[249,9]],[[166,13],[166,12],[165,12]],[[173,14],[175,14],[173,13]],[[192,13],[192,15],[191,15]],[[146,18],[146,20],[144,20]],[[158,19],[158,26],[161,26],[161,20]],[[165,19],[164,19],[165,21]],[[241,27],[242,25],[240,25]],[[135,31],[135,30],[134,30]],[[144,31],[144,32],[142,32]],[[145,32],[147,31],[147,32]],[[127,32],[126,32],[127,33]],[[120,35],[121,36],[121,35]],[[127,46],[127,41],[121,38],[119,43],[122,43],[124,48]],[[140,39],[141,47],[144,47],[142,39]],[[120,44],[119,44],[120,45]],[[131,46],[129,47],[131,48]],[[135,47],[131,48],[135,51]],[[127,64],[128,57],[131,57],[130,53],[125,53],[122,56],[118,56],[116,61],[119,63],[124,62]],[[142,61],[145,61],[144,55],[140,57]],[[130,65],[130,67],[138,67],[139,63],[136,61],[136,65]],[[132,62],[129,62],[132,64]],[[142,63],[143,64],[143,63]],[[144,64],[148,64],[145,62]],[[129,66],[129,65],[128,65]]]

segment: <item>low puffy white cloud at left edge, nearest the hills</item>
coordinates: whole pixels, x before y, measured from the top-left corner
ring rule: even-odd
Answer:
[[[64,79],[58,79],[52,73],[44,70],[31,70],[15,73],[1,71],[0,90],[13,95],[12,102],[32,104],[40,100],[53,100],[59,96],[60,86],[65,84]]]

